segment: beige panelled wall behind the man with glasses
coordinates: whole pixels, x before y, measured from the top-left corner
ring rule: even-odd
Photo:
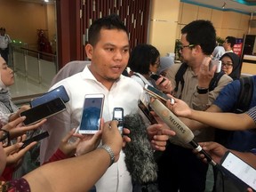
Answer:
[[[149,44],[165,55],[174,52],[175,39],[180,39],[180,29],[193,20],[211,20],[217,36],[243,38],[248,33],[250,15],[224,12],[179,0],[152,0]],[[251,34],[256,34],[256,28]]]

